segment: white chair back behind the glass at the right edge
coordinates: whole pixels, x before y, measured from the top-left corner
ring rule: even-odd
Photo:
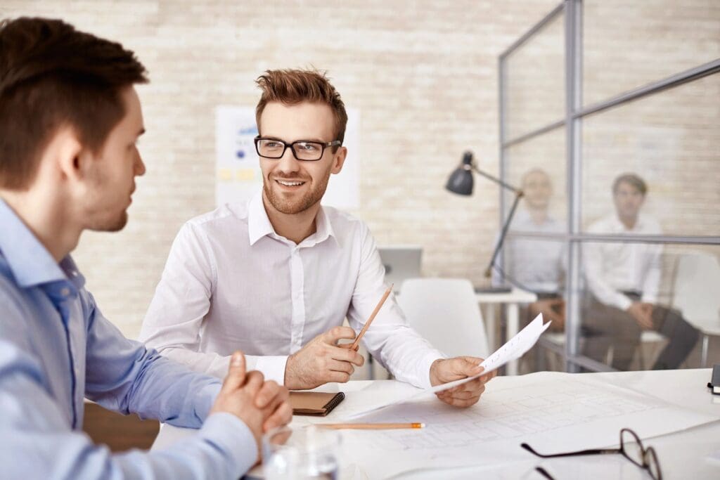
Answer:
[[[716,255],[701,251],[680,255],[672,306],[694,327],[720,335],[720,263]]]

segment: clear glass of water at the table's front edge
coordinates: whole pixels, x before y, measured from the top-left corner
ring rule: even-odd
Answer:
[[[341,435],[337,430],[279,427],[263,436],[266,480],[337,480]]]

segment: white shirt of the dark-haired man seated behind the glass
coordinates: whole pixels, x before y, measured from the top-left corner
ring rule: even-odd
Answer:
[[[628,229],[616,214],[598,220],[589,233],[660,235],[660,223],[640,215]],[[642,292],[642,301],[657,302],[662,245],[654,243],[584,243],[582,258],[588,289],[601,303],[626,310],[632,300],[623,291]]]

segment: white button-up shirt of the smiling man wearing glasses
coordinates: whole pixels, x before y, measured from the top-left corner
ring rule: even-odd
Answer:
[[[289,354],[346,317],[359,332],[386,289],[363,222],[321,207],[315,226],[297,245],[277,235],[260,193],[190,220],[173,243],[140,340],[219,377],[233,351],[243,350],[248,369],[283,384]],[[415,386],[430,386],[431,363],[444,358],[408,326],[393,295],[362,341]]]

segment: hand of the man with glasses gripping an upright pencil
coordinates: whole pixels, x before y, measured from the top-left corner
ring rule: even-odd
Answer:
[[[338,346],[338,340],[355,338],[350,327],[333,327],[310,340],[301,350],[287,358],[285,386],[291,390],[314,389],[329,381],[345,383],[362,366],[365,358],[349,345]]]

